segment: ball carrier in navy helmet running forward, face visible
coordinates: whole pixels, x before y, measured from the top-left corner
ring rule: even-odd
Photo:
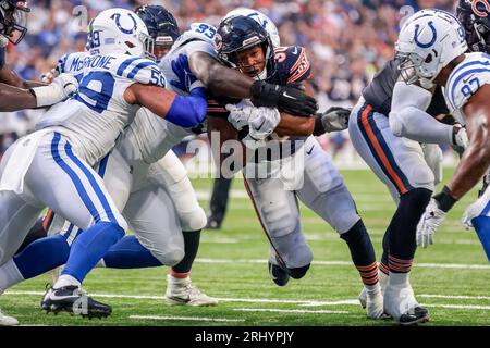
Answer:
[[[219,57],[229,66],[257,80],[282,85],[301,84],[308,88],[306,80],[311,74],[311,66],[302,47],[278,47],[274,49],[270,36],[264,27],[248,16],[231,16],[221,22],[217,41]],[[307,89],[308,90],[308,89]],[[225,103],[226,101],[221,101]],[[313,253],[306,244],[301,226],[297,199],[328,222],[347,243],[351,254],[359,271],[368,294],[367,313],[369,318],[379,319],[383,314],[382,296],[378,284],[378,271],[375,251],[363,221],[356,212],[354,201],[342,177],[334,169],[330,158],[321,150],[311,134],[319,135],[326,130],[341,130],[346,127],[343,112],[336,115],[336,126],[326,121],[324,116],[301,119],[281,113],[278,123],[264,122],[260,114],[274,112],[249,109],[242,105],[225,105],[228,111],[221,115],[208,115],[210,130],[219,130],[221,141],[242,139],[253,151],[252,162],[244,170],[245,185],[253,200],[259,221],[270,240],[269,271],[273,282],[279,286],[287,284],[290,277],[302,278],[309,269]],[[278,112],[278,111],[275,111]],[[278,112],[279,113],[279,112]],[[347,111],[348,114],[348,111]],[[257,115],[257,117],[255,116]],[[342,115],[342,116],[340,116]],[[237,132],[248,123],[248,132]],[[254,121],[259,120],[257,124]],[[339,122],[342,120],[343,122]],[[233,124],[233,125],[232,125]],[[266,126],[262,126],[266,124]],[[236,127],[236,129],[235,129]],[[271,133],[291,136],[289,149],[270,157],[257,156],[268,147],[278,145],[278,140],[267,139]],[[250,141],[248,141],[250,140]],[[258,140],[258,141],[255,141]],[[266,151],[267,152],[267,151]],[[281,177],[268,171],[264,177],[250,174],[253,169],[260,171],[262,165],[286,167],[304,154],[304,167],[294,173],[295,179],[302,177],[303,185],[294,190]],[[279,165],[278,165],[279,164]]]

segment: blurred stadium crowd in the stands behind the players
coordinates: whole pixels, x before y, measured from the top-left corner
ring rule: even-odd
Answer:
[[[8,48],[8,64],[25,79],[39,79],[66,52],[84,50],[87,18],[115,7],[163,4],[181,29],[193,22],[218,25],[237,7],[266,13],[278,26],[281,45],[307,48],[320,110],[352,105],[376,71],[392,57],[400,23],[414,11],[453,11],[454,0],[38,0],[29,2],[26,39]],[[0,153],[33,129],[41,111],[0,113]],[[345,144],[332,137],[332,145]]]

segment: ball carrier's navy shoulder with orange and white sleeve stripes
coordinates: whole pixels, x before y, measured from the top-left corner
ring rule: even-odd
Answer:
[[[311,77],[311,63],[304,47],[278,47],[274,51],[278,73],[287,84],[303,82]]]

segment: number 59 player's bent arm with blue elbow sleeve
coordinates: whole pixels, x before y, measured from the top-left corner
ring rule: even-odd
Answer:
[[[179,126],[192,128],[201,123],[208,109],[204,88],[194,88],[188,97],[162,87],[134,84],[124,92],[130,104],[139,104]]]

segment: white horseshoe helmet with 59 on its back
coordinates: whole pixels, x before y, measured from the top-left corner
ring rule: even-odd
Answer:
[[[123,53],[154,59],[154,40],[139,16],[125,9],[100,12],[88,25],[91,54]]]

